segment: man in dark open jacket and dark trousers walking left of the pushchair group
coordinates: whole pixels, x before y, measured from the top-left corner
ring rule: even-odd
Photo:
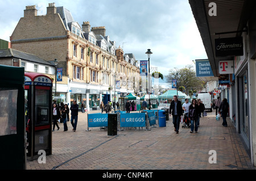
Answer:
[[[172,114],[172,123],[174,124],[174,131],[176,132],[176,134],[178,134],[180,128],[180,116],[183,115],[183,110],[180,100],[177,99],[177,95],[174,95],[174,100],[172,100],[170,104],[170,113]]]

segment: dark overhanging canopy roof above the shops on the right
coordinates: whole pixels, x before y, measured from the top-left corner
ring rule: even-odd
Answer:
[[[251,10],[255,7],[254,0],[218,0],[216,3],[216,16],[210,16],[209,3],[212,0],[189,0],[193,15],[199,29],[205,51],[207,53],[214,77],[218,77],[218,62],[233,60],[234,57],[216,57],[214,40],[217,38],[241,36],[241,33],[215,33],[242,31],[246,27]]]

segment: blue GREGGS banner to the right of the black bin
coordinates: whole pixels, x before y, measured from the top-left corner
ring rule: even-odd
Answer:
[[[146,127],[146,114],[121,113],[120,127]]]

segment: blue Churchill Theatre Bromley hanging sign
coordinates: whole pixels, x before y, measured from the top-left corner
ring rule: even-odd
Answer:
[[[209,60],[196,60],[196,77],[214,77]]]

